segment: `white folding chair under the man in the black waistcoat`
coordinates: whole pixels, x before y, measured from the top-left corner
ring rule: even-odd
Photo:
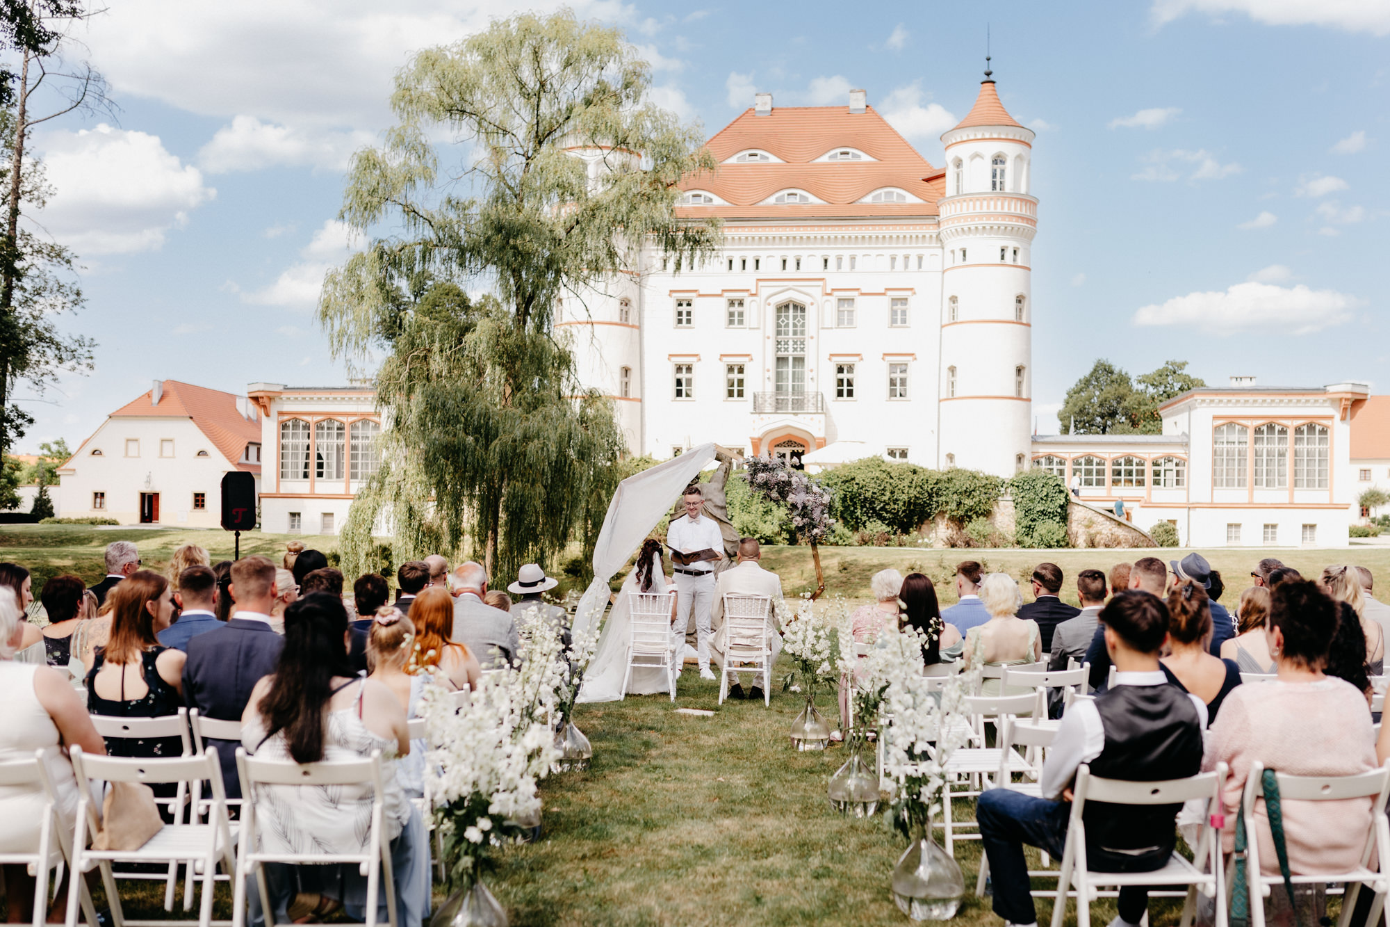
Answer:
[[[1198,891],[1216,899],[1216,927],[1226,927],[1226,882],[1222,870],[1220,831],[1212,827],[1212,816],[1220,814],[1222,784],[1225,781],[1225,763],[1218,764],[1212,772],[1158,782],[1102,779],[1098,775],[1091,775],[1091,767],[1083,763],[1076,771],[1076,786],[1072,789],[1072,820],[1066,828],[1062,869],[1058,871],[1052,927],[1062,927],[1066,917],[1066,899],[1072,896],[1076,898],[1076,927],[1091,927],[1091,902],[1099,898],[1098,887],[1101,885],[1113,885],[1115,888],[1187,885],[1182,927],[1190,927],[1193,923],[1197,913]],[[1086,857],[1086,821],[1083,820],[1087,802],[1182,805],[1193,799],[1207,802],[1197,846],[1193,848],[1193,859],[1188,860],[1175,849],[1162,869],[1148,873],[1091,871]],[[1176,813],[1173,827],[1177,827]]]

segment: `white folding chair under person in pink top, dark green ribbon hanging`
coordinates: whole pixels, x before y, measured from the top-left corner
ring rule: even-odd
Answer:
[[[1269,898],[1272,891],[1282,889],[1284,884],[1284,877],[1277,871],[1272,876],[1265,876],[1259,869],[1259,835],[1255,824],[1255,802],[1262,802],[1265,798],[1264,772],[1264,764],[1252,764],[1250,778],[1245,779],[1245,789],[1240,796],[1241,807],[1245,811],[1245,878],[1250,885],[1251,927],[1265,927],[1264,899]],[[1293,870],[1290,881],[1294,885],[1347,882],[1347,892],[1341,899],[1341,917],[1337,920],[1339,927],[1347,927],[1351,921],[1351,914],[1357,908],[1357,895],[1361,892],[1362,885],[1375,892],[1371,914],[1365,923],[1379,923],[1380,910],[1384,908],[1386,891],[1390,888],[1390,880],[1386,876],[1386,866],[1390,863],[1390,823],[1386,820],[1386,792],[1390,789],[1390,767],[1380,767],[1379,770],[1359,775],[1284,775],[1283,772],[1275,772],[1275,781],[1279,782],[1279,802],[1284,807],[1289,807],[1289,802],[1371,799],[1371,818],[1366,821],[1366,845],[1361,850],[1359,866],[1340,873],[1309,873],[1295,869],[1298,866],[1297,860],[1291,859],[1289,863],[1290,870]],[[1375,869],[1371,869],[1372,855],[1377,860]]]

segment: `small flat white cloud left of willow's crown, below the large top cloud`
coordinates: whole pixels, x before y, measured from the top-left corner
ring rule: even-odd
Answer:
[[[366,131],[300,129],[238,116],[217,129],[197,153],[208,174],[259,171],[265,167],[321,167],[343,170],[359,148],[375,141]]]

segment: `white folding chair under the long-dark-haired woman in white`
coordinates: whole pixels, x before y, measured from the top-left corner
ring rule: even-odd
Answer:
[[[246,923],[246,880],[256,877],[261,910],[271,910],[270,889],[265,884],[265,863],[292,863],[300,866],[327,866],[332,863],[356,863],[357,870],[367,877],[367,920],[359,927],[377,926],[377,896],[386,895],[386,917],[396,927],[396,880],[391,867],[391,843],[385,837],[385,784],[381,770],[381,750],[373,750],[371,759],[292,763],[285,760],[257,760],[236,749],[236,771],[240,774],[242,795],[242,839],[236,849],[236,878],[232,889],[232,923]],[[260,786],[324,786],[324,785],[371,785],[371,827],[367,842],[359,853],[289,853],[261,849],[261,830],[257,823],[257,809],[267,799]],[[70,926],[71,927],[71,926]]]

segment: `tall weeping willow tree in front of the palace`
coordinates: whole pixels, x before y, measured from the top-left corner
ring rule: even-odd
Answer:
[[[349,569],[384,512],[395,560],[468,546],[495,575],[577,529],[591,540],[623,440],[577,383],[555,306],[639,273],[644,249],[680,269],[719,244],[716,223],[676,216],[677,181],[713,168],[699,128],[649,86],[620,32],[569,11],[495,21],[398,75],[398,121],[354,156],[341,213],[388,234],[328,273],[318,305],[335,354],[389,352],[384,465],[345,526]]]

